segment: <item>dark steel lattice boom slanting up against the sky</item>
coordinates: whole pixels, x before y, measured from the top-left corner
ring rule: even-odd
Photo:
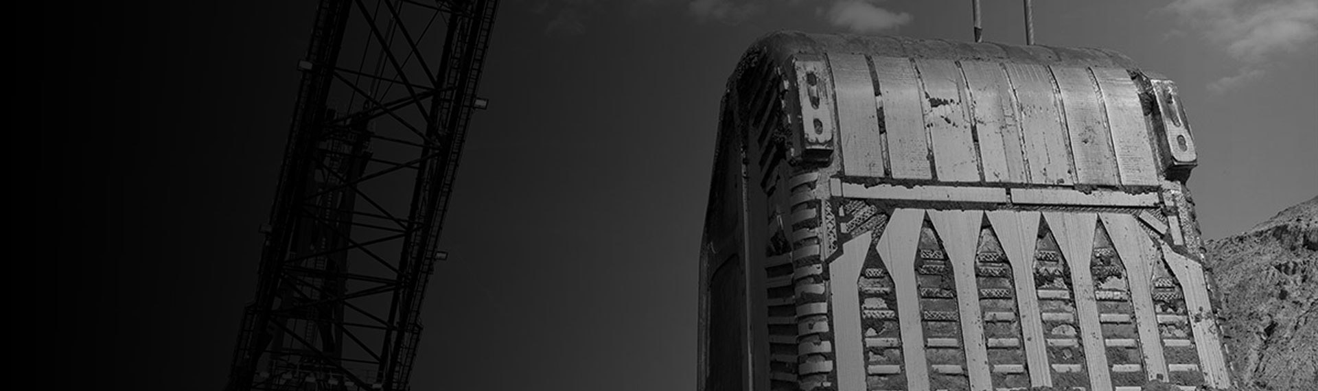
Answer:
[[[497,0],[320,0],[225,390],[407,390]]]

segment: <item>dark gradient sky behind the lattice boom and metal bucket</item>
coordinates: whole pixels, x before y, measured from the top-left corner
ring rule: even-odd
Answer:
[[[219,390],[314,1],[47,9],[40,170],[62,359],[98,384]],[[1206,237],[1318,194],[1318,1],[1036,1],[1040,43],[1181,87]],[[1020,43],[1016,1],[986,39]],[[414,390],[691,390],[718,100],[778,29],[970,39],[969,1],[505,0]],[[58,75],[58,76],[57,76]],[[74,241],[69,241],[74,238]]]

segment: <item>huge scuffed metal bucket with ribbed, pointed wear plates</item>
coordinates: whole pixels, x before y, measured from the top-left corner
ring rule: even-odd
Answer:
[[[701,390],[1230,384],[1166,78],[1099,49],[779,33],[728,91],[701,259],[758,271],[754,386]],[[701,325],[702,354],[742,342]]]

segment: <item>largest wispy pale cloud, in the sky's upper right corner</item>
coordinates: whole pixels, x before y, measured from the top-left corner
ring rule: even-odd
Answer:
[[[1166,9],[1240,62],[1235,75],[1209,84],[1217,92],[1263,78],[1281,57],[1318,41],[1318,0],[1176,0]]]

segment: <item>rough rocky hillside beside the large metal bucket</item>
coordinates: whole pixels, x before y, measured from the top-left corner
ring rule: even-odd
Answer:
[[[1318,390],[1318,197],[1209,241],[1238,390]]]

